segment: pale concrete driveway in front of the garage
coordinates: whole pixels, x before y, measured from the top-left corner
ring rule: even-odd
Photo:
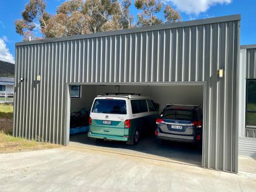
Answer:
[[[253,163],[253,161],[252,161]],[[66,146],[0,155],[1,191],[255,191],[256,174]]]

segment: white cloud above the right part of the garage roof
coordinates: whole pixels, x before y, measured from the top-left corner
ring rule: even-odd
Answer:
[[[181,12],[187,14],[199,14],[207,11],[211,6],[217,4],[230,4],[232,0],[166,0]]]

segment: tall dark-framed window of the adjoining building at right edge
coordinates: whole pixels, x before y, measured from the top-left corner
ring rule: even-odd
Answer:
[[[246,127],[256,127],[256,79],[246,82]]]

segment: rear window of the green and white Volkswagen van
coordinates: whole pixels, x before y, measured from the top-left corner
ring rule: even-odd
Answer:
[[[126,102],[119,99],[96,99],[92,113],[126,114]]]

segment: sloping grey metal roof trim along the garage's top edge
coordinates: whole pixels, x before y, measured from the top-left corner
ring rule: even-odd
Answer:
[[[23,41],[23,42],[16,42],[15,46],[44,44],[49,42],[86,39],[86,38],[103,37],[103,36],[111,36],[111,35],[122,35],[127,33],[129,34],[129,33],[137,33],[137,32],[155,31],[155,30],[161,30],[161,29],[172,29],[172,28],[180,28],[180,27],[188,27],[188,26],[196,26],[196,25],[206,25],[206,24],[212,24],[212,23],[229,22],[232,20],[241,20],[241,14],[212,17],[212,18],[205,18],[205,19],[198,19],[198,20],[189,20],[186,22],[179,22],[179,23],[172,23],[172,24],[161,24],[161,25],[155,25],[155,26],[123,29],[123,30],[117,30],[117,31],[106,31],[106,32],[99,32],[99,33],[84,34],[84,35]]]

